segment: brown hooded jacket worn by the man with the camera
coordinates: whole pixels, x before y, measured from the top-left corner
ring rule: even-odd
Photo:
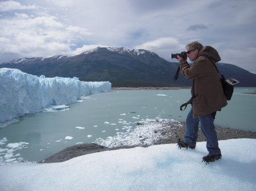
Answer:
[[[214,62],[220,60],[216,49],[204,46],[191,66],[187,60],[180,61],[180,70],[184,77],[194,80],[191,89],[191,94],[195,96],[192,101],[193,118],[216,112],[228,104],[218,71],[214,67]]]

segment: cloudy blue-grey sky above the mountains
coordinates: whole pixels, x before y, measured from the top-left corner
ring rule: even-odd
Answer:
[[[171,53],[200,41],[256,73],[255,0],[0,0],[0,63],[97,46]]]

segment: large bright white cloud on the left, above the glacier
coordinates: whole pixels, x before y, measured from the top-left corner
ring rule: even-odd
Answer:
[[[72,46],[92,35],[86,28],[61,23],[56,16],[14,13],[0,19],[1,53],[23,57],[71,54]]]

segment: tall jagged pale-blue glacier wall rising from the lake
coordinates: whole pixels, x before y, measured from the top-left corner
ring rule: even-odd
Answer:
[[[18,69],[0,69],[0,123],[50,105],[75,103],[81,96],[111,91],[110,82],[82,82],[79,78],[46,78]]]

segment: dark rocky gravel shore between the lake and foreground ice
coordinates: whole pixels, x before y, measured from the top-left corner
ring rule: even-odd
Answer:
[[[162,129],[154,131],[155,134],[160,133],[160,137],[152,142],[151,145],[160,145],[160,144],[170,144],[176,143],[177,139],[183,139],[185,134],[185,123],[184,122],[159,122],[160,125],[163,125]],[[256,132],[254,131],[243,131],[236,130],[230,128],[218,128],[216,127],[216,132],[218,136],[218,140],[226,140],[226,139],[236,139],[236,138],[252,138],[256,139]],[[40,163],[56,163],[56,162],[64,162],[65,160],[69,160],[75,158],[77,156],[92,154],[94,152],[101,151],[109,151],[109,150],[117,150],[123,148],[133,148],[137,146],[147,147],[150,145],[144,145],[143,142],[146,141],[147,137],[143,137],[143,135],[138,135],[141,138],[141,144],[133,145],[133,146],[118,146],[118,147],[106,147],[102,145],[97,145],[96,143],[85,143],[81,145],[74,145],[71,147],[67,147],[64,150],[56,153],[55,155],[49,156],[47,159],[42,160]],[[199,130],[199,137],[197,142],[206,141],[203,133]]]

